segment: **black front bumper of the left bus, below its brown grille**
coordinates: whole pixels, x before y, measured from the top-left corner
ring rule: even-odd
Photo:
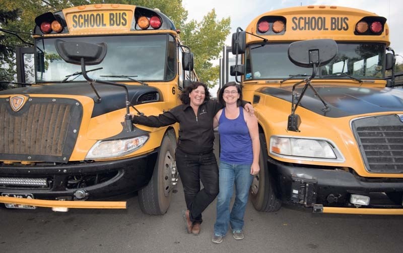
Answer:
[[[98,177],[89,186],[80,187],[88,192],[88,199],[104,199],[137,191],[148,184],[157,160],[155,150],[143,156],[128,159],[60,164],[54,166],[0,165],[2,178],[46,178],[46,187],[0,185],[0,193],[33,194],[36,199],[74,199],[77,188],[70,187],[69,179]],[[103,180],[99,180],[102,178]],[[80,185],[80,184],[79,184]]]

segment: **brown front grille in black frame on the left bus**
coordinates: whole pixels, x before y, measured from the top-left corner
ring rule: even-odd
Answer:
[[[82,114],[73,99],[31,98],[17,112],[0,99],[0,160],[67,162]]]

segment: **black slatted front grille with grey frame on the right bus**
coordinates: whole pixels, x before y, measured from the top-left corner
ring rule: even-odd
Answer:
[[[397,115],[361,118],[352,126],[368,172],[403,173],[403,123]]]

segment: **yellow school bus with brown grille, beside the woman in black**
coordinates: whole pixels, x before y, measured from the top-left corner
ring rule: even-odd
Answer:
[[[35,24],[35,83],[0,92],[0,202],[117,208],[83,200],[139,191],[143,212],[164,214],[178,125],[135,127],[129,117],[175,107],[197,79],[175,25],[157,9],[118,4],[44,13]]]

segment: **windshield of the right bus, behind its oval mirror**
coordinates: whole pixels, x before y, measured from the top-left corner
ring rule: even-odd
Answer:
[[[252,44],[246,51],[245,79],[288,78],[311,75],[310,68],[294,65],[287,56],[288,43]],[[317,77],[348,74],[356,78],[384,77],[385,45],[377,43],[338,43],[337,56],[318,70]],[[303,77],[301,77],[303,78]]]

